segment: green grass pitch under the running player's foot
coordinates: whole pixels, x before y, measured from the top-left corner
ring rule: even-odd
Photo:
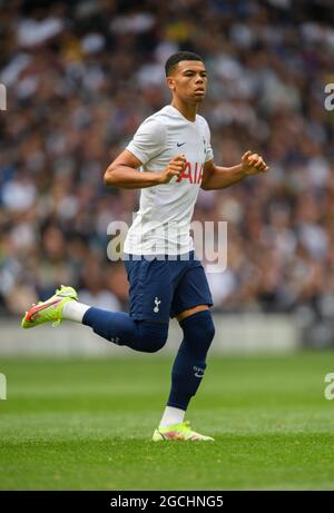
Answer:
[[[334,353],[210,356],[187,418],[153,443],[171,357],[2,359],[1,490],[333,490]]]

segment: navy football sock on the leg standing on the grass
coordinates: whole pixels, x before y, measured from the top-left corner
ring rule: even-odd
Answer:
[[[215,336],[215,326],[208,309],[197,312],[179,324],[184,339],[174,362],[167,405],[187,410],[190,398],[200,385],[206,368],[206,355]]]

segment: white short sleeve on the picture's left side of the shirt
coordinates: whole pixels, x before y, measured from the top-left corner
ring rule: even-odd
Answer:
[[[144,121],[127,149],[141,164],[147,164],[165,149],[166,127],[155,120]]]

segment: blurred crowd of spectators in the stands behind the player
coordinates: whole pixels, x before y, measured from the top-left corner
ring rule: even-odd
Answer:
[[[261,152],[267,175],[202,190],[194,219],[228,221],[215,308],[334,317],[334,20],[326,0],[0,0],[0,309],[18,314],[60,284],[127,308],[108,225],[138,190],[102,175],[144,118],[170,101],[164,63],[202,55],[200,108],[215,161]],[[204,262],[206,265],[207,263]],[[302,315],[301,314],[301,315]]]

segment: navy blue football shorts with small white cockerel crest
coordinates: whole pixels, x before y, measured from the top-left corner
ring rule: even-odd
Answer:
[[[188,260],[126,255],[130,316],[136,320],[168,323],[198,305],[213,305],[204,267],[194,251]],[[140,258],[140,259],[138,259]]]

